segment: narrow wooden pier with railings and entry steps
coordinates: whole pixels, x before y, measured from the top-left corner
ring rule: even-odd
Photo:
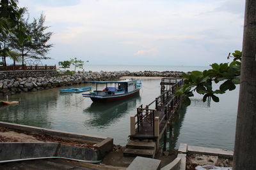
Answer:
[[[161,95],[131,116],[131,134],[124,156],[152,157],[159,147],[159,139],[166,134],[166,127],[175,112],[179,110],[180,96],[173,97],[177,87],[182,86],[180,78],[162,78]]]

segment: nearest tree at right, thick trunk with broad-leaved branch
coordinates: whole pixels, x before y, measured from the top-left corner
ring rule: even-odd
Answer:
[[[214,94],[221,94],[225,90],[234,89],[234,84],[239,80],[241,73],[239,102],[236,122],[236,139],[234,147],[234,170],[256,169],[256,1],[246,0],[244,15],[244,35],[243,35],[243,54],[241,64],[234,60],[227,64],[212,64],[213,71],[192,72],[191,75],[185,75],[184,87],[177,91],[176,95],[184,92],[184,99],[189,104],[188,97],[193,96],[193,92],[204,94],[206,97],[212,97],[213,101],[219,99]],[[238,53],[235,52],[235,55]],[[236,59],[236,56],[234,56]],[[231,66],[230,66],[231,65]],[[238,73],[241,66],[241,72]],[[220,70],[226,70],[221,73]],[[218,71],[219,70],[219,71]],[[216,79],[211,79],[211,73],[220,73]],[[210,78],[203,78],[203,76]],[[217,75],[217,74],[216,74]],[[191,80],[190,80],[191,79]],[[212,81],[225,80],[220,90],[212,90]],[[193,85],[192,82],[193,81]],[[202,86],[202,83],[204,85]],[[191,91],[191,88],[194,88]],[[205,97],[206,96],[206,97]]]

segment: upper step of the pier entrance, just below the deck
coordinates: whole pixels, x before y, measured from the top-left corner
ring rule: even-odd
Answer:
[[[156,149],[156,143],[154,141],[147,142],[147,141],[129,140],[128,143],[126,144],[126,148],[155,150]]]

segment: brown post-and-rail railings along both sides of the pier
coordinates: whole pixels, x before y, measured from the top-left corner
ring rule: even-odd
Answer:
[[[167,78],[164,78],[167,79]],[[170,79],[170,78],[169,78]],[[163,80],[161,81],[161,83]],[[153,136],[159,136],[159,125],[164,120],[167,120],[170,118],[173,109],[175,106],[177,106],[179,102],[179,96],[173,97],[173,94],[175,93],[175,90],[177,87],[180,87],[183,84],[183,80],[180,79],[177,81],[177,79],[168,80],[170,83],[172,83],[172,86],[170,89],[166,90],[166,92],[163,92],[160,96],[156,97],[154,101],[146,105],[145,108],[143,108],[143,104],[141,104],[137,108],[137,114],[134,116],[131,116],[131,135],[135,135],[136,132],[140,133],[142,132],[143,125],[148,124],[153,129],[152,135]],[[163,84],[162,84],[163,85]],[[154,104],[155,108],[150,109],[149,107]],[[163,111],[164,115],[163,117],[159,117],[159,115],[156,116],[157,111]],[[159,120],[161,118],[161,120]],[[136,121],[137,119],[137,121]]]

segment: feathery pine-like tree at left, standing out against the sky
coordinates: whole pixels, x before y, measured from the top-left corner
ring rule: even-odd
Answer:
[[[45,57],[47,52],[52,47],[52,44],[47,44],[51,38],[52,32],[45,32],[49,27],[44,26],[45,16],[40,15],[38,19],[34,18],[33,22],[29,23],[28,18],[22,18],[26,33],[30,36],[31,41],[25,39],[24,43],[20,45],[16,36],[12,36],[10,47],[16,52],[20,53],[22,57],[22,65],[24,60],[30,59],[51,59]]]

